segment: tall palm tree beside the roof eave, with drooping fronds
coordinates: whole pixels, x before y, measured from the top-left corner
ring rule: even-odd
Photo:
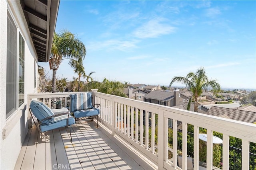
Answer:
[[[56,72],[64,59],[69,59],[72,68],[82,68],[86,55],[86,48],[82,41],[69,31],[54,33],[52,51],[50,55],[50,69],[52,70],[52,88],[56,92]]]

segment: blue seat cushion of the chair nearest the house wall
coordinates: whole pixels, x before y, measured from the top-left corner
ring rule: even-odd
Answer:
[[[71,115],[69,115],[69,117],[68,115],[61,115],[61,116],[56,116],[54,121],[50,125],[41,124],[40,129],[42,132],[45,132],[45,131],[50,131],[52,129],[65,127],[67,126],[67,118],[68,118],[68,125],[75,124],[75,119]]]

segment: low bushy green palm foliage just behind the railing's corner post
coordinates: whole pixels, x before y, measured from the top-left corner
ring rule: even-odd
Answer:
[[[98,88],[98,92],[127,98],[127,95],[124,93],[125,85],[119,81],[110,81],[104,78],[102,82],[98,82],[98,81],[90,82],[90,87]]]

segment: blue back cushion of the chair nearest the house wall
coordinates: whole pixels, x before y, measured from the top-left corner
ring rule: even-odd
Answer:
[[[32,102],[30,103],[30,109],[39,121],[45,119],[46,117],[54,116],[54,113],[49,107],[47,107],[44,103],[36,100],[32,100]],[[54,117],[46,119],[42,121],[42,124],[50,125],[53,120]]]

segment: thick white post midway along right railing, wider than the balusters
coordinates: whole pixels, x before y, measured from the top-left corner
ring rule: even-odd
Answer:
[[[158,131],[157,131],[157,152],[158,152],[158,169],[164,169],[164,111],[158,111]]]

